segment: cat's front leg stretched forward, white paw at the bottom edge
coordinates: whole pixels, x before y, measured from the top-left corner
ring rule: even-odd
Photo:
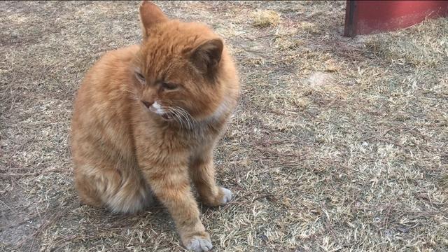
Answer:
[[[184,246],[193,251],[209,251],[213,246],[190,190],[188,166],[178,158],[167,158],[163,163],[139,158],[139,165],[154,195],[172,215]]]

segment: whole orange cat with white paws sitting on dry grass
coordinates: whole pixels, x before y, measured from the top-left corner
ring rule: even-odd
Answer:
[[[222,38],[200,23],[170,20],[140,6],[144,41],[106,53],[87,73],[73,111],[71,148],[80,199],[133,213],[155,197],[174,218],[183,244],[209,251],[209,234],[191,192],[225,204],[213,150],[239,95]]]

